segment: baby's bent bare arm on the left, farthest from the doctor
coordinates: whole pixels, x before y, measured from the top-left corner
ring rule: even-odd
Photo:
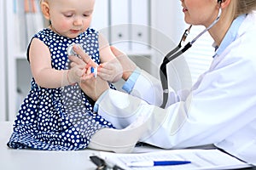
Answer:
[[[61,88],[73,82],[79,82],[83,74],[81,66],[70,70],[55,70],[51,66],[49,48],[38,38],[33,38],[29,49],[32,77],[42,88]]]

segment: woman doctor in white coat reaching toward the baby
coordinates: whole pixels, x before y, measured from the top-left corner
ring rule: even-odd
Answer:
[[[100,77],[84,77],[81,88],[96,100],[95,111],[115,127],[147,122],[139,141],[166,149],[215,144],[256,163],[256,0],[181,3],[184,20],[191,25],[210,26],[222,9],[220,20],[209,30],[217,48],[212,65],[193,88],[178,93],[169,88],[166,108],[161,109],[160,81],[117,48],[112,48],[113,54],[123,66],[127,94],[109,89]],[[74,50],[93,65],[79,48]]]

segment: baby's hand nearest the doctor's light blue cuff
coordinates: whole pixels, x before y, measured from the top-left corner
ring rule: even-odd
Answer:
[[[99,65],[97,75],[105,81],[118,82],[122,78],[123,67],[118,59],[112,59]]]

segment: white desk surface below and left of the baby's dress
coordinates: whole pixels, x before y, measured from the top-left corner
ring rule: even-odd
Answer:
[[[13,150],[6,145],[12,133],[12,122],[0,122],[1,170],[95,170],[89,156],[96,150],[46,151]]]

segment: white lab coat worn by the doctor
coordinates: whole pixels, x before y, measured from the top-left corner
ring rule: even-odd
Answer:
[[[255,44],[256,17],[248,14],[236,40],[191,90],[172,90],[166,109],[159,107],[160,81],[142,71],[131,95],[105,92],[96,102],[98,113],[117,128],[143,117],[148,130],[139,140],[148,144],[166,149],[215,144],[256,163]]]

